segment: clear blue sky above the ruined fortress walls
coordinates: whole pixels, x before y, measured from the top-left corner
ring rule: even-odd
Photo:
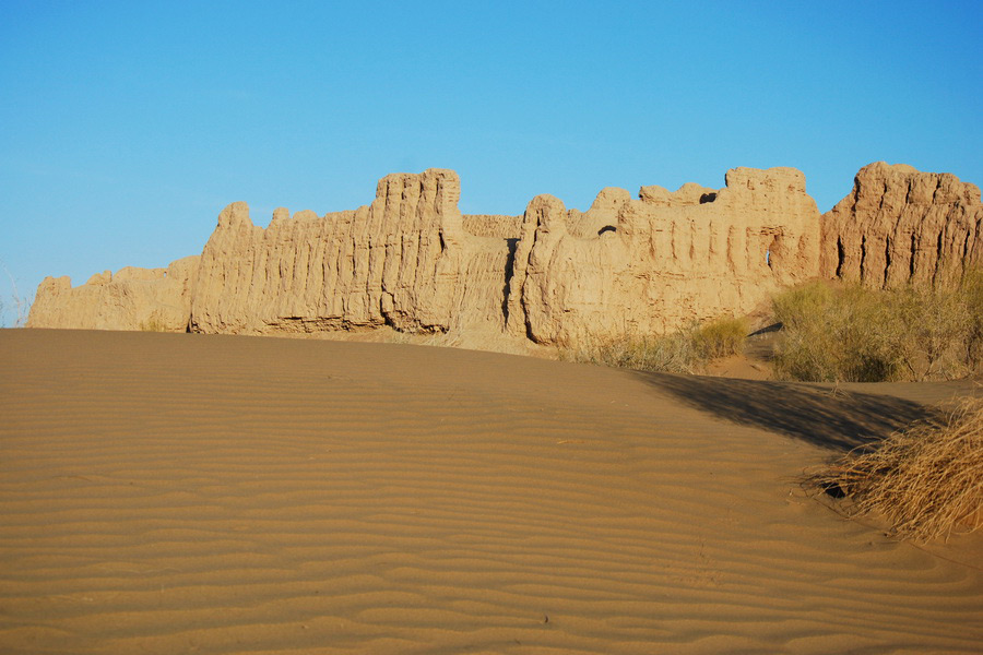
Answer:
[[[800,168],[820,211],[880,159],[980,184],[981,25],[980,0],[0,0],[0,261],[33,296],[198,254],[233,201],[265,225],[429,167],[465,213],[735,166]]]

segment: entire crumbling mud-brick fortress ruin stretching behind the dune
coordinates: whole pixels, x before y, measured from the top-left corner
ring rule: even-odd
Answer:
[[[285,209],[269,227],[222,211],[201,255],[72,288],[45,278],[28,327],[288,334],[511,335],[540,344],[665,333],[745,314],[810,278],[949,285],[983,265],[980,189],[949,174],[871,164],[820,215],[794,168],[735,168],[687,183],[552,195],[521,216],[464,215],[451,170],[395,174],[357,210]]]

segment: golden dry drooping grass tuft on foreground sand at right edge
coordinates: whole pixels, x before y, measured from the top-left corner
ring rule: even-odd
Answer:
[[[896,432],[853,452],[812,484],[853,501],[853,515],[881,514],[890,534],[927,541],[983,527],[983,398],[964,400],[941,424]]]

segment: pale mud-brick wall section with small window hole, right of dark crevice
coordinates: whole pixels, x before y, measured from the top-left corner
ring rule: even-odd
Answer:
[[[591,210],[525,212],[509,329],[540,343],[672,331],[741,314],[816,275],[819,212],[792,168],[732,169],[720,191],[605,189]]]

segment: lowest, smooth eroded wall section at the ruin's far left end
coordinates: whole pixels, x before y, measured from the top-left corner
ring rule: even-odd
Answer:
[[[67,276],[46,277],[37,287],[27,326],[185,332],[198,260],[193,255],[166,269],[127,266],[116,275],[96,273],[75,288]]]

